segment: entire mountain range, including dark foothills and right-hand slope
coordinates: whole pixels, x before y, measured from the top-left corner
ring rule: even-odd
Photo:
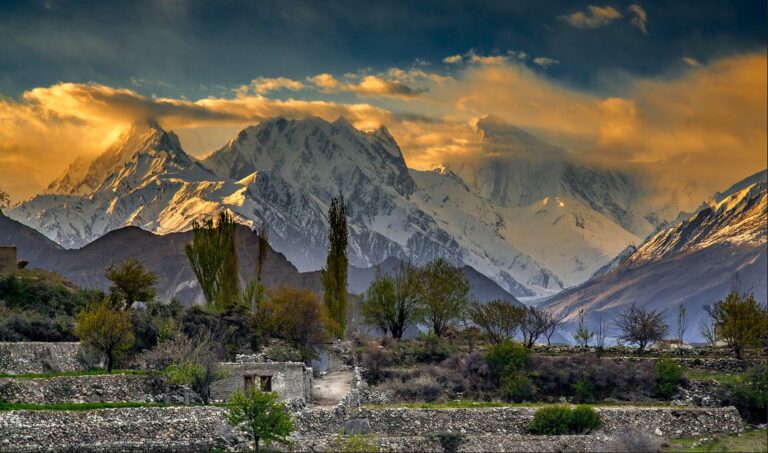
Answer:
[[[343,118],[267,119],[203,160],[156,122],[137,123],[12,208],[20,223],[0,217],[0,239],[18,242],[33,267],[101,288],[104,267],[139,255],[161,273],[161,297],[192,303],[201,299],[183,244],[195,221],[227,209],[244,225],[244,279],[255,259],[249,228],[263,225],[275,257],[268,283],[319,290],[325,213],[341,194],[353,293],[375,268],[444,257],[463,266],[479,299],[536,301],[569,323],[582,308],[595,322],[633,302],[684,304],[698,317],[734,273],[765,300],[765,171],[681,212],[685,195],[659,204],[663,189],[647,174],[588,164],[492,116],[474,127],[477,156],[419,171],[386,128]]]

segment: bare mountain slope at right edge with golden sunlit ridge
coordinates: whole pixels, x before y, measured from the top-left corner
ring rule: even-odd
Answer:
[[[758,175],[716,194],[689,219],[660,231],[635,251],[628,250],[614,269],[597,273],[543,305],[569,314],[567,320],[573,323],[580,309],[595,322],[598,317],[615,318],[631,303],[668,314],[683,304],[689,325],[698,326],[702,307],[724,297],[734,275],[742,288],[764,303],[768,191],[766,173]],[[689,329],[688,337],[701,340],[696,327]]]

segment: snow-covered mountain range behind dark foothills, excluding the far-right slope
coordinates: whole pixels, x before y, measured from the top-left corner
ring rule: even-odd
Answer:
[[[418,171],[386,128],[364,132],[343,118],[268,119],[201,161],[173,132],[137,123],[8,215],[78,248],[129,225],[186,231],[228,209],[266,225],[273,247],[310,271],[324,263],[330,198],[343,194],[351,264],[445,257],[517,297],[581,283],[653,231],[627,175],[578,164],[496,118],[476,130],[494,157]]]

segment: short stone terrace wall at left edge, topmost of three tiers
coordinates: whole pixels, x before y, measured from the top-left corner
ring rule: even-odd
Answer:
[[[80,343],[0,342],[0,374],[81,371],[88,362]]]

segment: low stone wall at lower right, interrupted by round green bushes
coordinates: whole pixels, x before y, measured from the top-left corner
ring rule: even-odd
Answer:
[[[727,408],[599,407],[603,427],[600,432],[613,434],[633,426],[664,437],[741,432],[744,424],[738,411]],[[317,437],[344,429],[352,416],[307,410],[297,415],[298,437]],[[461,409],[363,409],[354,418],[367,424],[368,430],[387,436],[425,436],[440,431],[473,435],[522,435],[527,433],[534,407],[461,408]]]

